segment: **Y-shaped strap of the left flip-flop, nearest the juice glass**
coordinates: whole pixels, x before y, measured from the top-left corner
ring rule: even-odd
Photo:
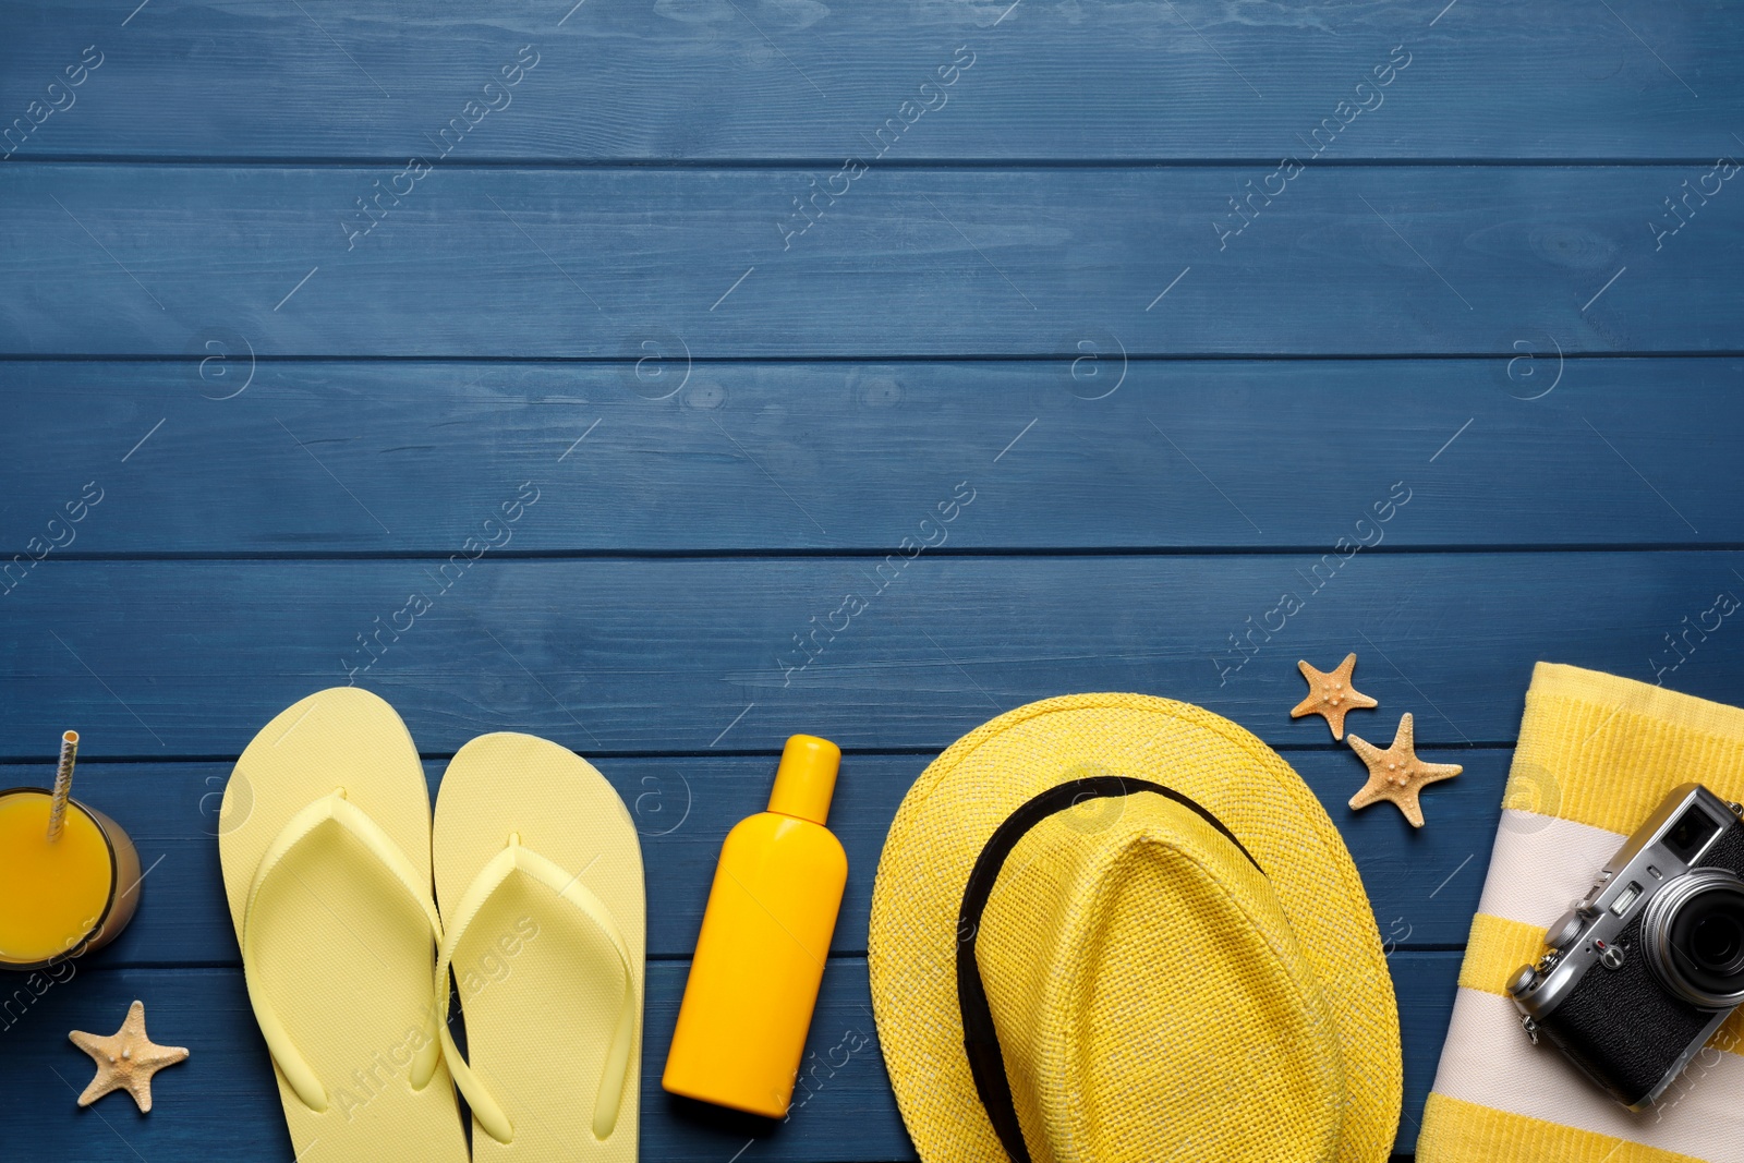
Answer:
[[[436,943],[441,943],[441,919],[436,914],[436,905],[431,900],[429,886],[426,879],[419,875],[406,854],[399,851],[392,837],[382,832],[382,826],[370,820],[368,813],[361,811],[358,806],[345,799],[345,790],[337,788],[331,795],[323,795],[314,800],[284,825],[272,844],[267,847],[267,854],[260,858],[260,867],[255,870],[255,882],[248,891],[248,905],[242,910],[242,975],[248,980],[248,1001],[255,1008],[255,1022],[260,1024],[260,1032],[267,1039],[267,1050],[272,1053],[272,1060],[279,1065],[284,1074],[284,1081],[291,1085],[291,1090],[303,1102],[305,1107],[316,1111],[317,1114],[328,1109],[328,1093],[316,1078],[314,1069],[296,1050],[296,1043],[291,1041],[290,1032],[284,1029],[284,1022],[279,1020],[277,1011],[272,1003],[267,1001],[265,989],[260,983],[260,975],[256,968],[255,954],[255,933],[260,924],[260,894],[267,886],[267,881],[274,879],[274,872],[284,867],[286,856],[290,856],[298,844],[314,835],[321,825],[337,823],[354,835],[384,868],[394,874],[394,879],[406,889],[403,900],[410,900],[424,921],[429,924],[431,935]],[[426,1018],[426,1039],[417,1057],[412,1060],[412,1090],[424,1090],[424,1086],[436,1074],[436,1062],[441,1053],[441,1043],[436,1037],[438,1029],[445,1029],[438,1015],[446,1017],[446,990],[443,992],[441,1008],[433,1008]]]

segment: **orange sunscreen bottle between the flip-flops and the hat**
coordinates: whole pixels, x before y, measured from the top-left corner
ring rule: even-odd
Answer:
[[[848,882],[823,826],[841,762],[828,739],[790,738],[769,811],[727,833],[661,1078],[671,1093],[787,1114]]]

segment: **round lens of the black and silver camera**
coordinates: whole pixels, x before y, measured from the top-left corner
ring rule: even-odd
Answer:
[[[1709,1010],[1744,1001],[1744,882],[1697,868],[1655,894],[1643,917],[1655,973]]]

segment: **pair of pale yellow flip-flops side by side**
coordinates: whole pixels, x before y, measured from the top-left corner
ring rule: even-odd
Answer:
[[[433,825],[399,715],[321,690],[242,752],[220,856],[298,1163],[466,1163],[455,1088],[473,1160],[637,1158],[642,849],[586,760],[473,739]]]

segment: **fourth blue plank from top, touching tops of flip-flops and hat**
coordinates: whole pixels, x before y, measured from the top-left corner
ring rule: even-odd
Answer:
[[[45,755],[68,725],[89,758],[237,755],[347,678],[438,755],[485,731],[582,753],[767,753],[794,731],[937,750],[1069,690],[1167,694],[1324,745],[1287,715],[1296,659],[1346,650],[1385,708],[1357,731],[1386,738],[1411,710],[1430,748],[1512,741],[1538,659],[1732,703],[1744,682],[1716,605],[1744,584],[1739,553],[902,561],[49,558],[3,598],[0,755]]]

